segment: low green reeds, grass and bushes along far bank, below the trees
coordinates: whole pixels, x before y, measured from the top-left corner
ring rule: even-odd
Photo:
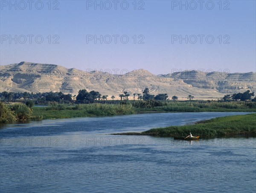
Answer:
[[[28,106],[32,107],[29,108]],[[248,101],[159,101],[159,100],[102,100],[90,104],[49,103],[33,107],[30,101],[7,105],[1,103],[0,122],[64,119],[86,116],[112,116],[147,112],[256,112],[256,102]]]

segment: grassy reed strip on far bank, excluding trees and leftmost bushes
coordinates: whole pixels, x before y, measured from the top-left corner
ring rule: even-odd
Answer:
[[[115,103],[52,104],[47,107],[33,107],[33,116],[43,119],[64,119],[86,116],[112,116],[155,112],[256,112],[256,102],[216,101],[113,101]]]

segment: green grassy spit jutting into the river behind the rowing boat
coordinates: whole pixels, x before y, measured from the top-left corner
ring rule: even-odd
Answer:
[[[142,134],[174,137],[188,136],[189,132],[193,136],[218,137],[247,135],[256,136],[256,114],[224,116],[210,119],[194,125],[170,126],[166,128],[154,128]]]

